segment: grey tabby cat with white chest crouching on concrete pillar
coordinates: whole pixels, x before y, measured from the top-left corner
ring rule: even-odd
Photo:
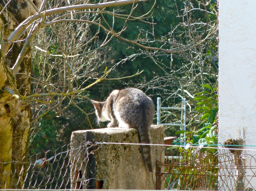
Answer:
[[[105,102],[91,100],[98,120],[110,121],[108,127],[137,128],[140,142],[151,144],[149,127],[153,123],[154,104],[141,90],[126,88],[114,90]],[[151,146],[141,145],[142,157],[152,172]]]

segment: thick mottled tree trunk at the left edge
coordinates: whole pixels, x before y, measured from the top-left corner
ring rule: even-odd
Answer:
[[[6,3],[0,0],[1,10]],[[7,12],[8,11],[8,12]],[[2,31],[1,39],[7,42],[7,38],[14,29],[25,20],[29,14],[34,14],[35,10],[27,2],[27,0],[12,0],[3,13],[0,15],[0,29]],[[14,19],[14,18],[15,19]],[[5,25],[6,24],[6,25]],[[26,36],[21,37],[25,39]],[[22,168],[27,160],[27,147],[30,130],[31,109],[29,102],[21,102],[11,93],[6,92],[8,87],[14,88],[7,78],[6,69],[15,64],[19,53],[22,50],[25,41],[14,43],[10,47],[10,51],[2,53],[0,64],[0,185],[4,188],[22,188],[23,176],[26,169]],[[1,43],[1,46],[4,46]],[[31,48],[26,52],[26,56],[17,69],[17,72],[30,74],[31,71]],[[8,72],[7,72],[8,73]],[[14,81],[12,79],[12,81]],[[16,88],[21,95],[29,95],[31,89],[31,81],[25,75],[16,75]],[[27,126],[28,125],[28,126]],[[27,126],[27,127],[26,127]],[[11,161],[20,161],[11,162]],[[20,178],[20,179],[19,179]]]

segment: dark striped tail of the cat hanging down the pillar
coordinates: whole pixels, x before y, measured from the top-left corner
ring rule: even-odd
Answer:
[[[151,138],[150,138],[150,132],[149,132],[150,126],[145,123],[139,124],[138,132],[140,137],[140,142],[142,144],[151,144]],[[151,145],[141,145],[141,153],[142,157],[144,159],[144,162],[146,162],[148,166],[148,170],[152,172],[152,161],[151,161]]]

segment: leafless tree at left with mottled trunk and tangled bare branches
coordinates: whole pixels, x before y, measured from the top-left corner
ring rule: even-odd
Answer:
[[[98,4],[89,4],[89,1],[51,2],[46,0],[9,0],[7,3],[5,1],[0,2],[2,7],[0,12],[0,160],[1,162],[10,162],[0,169],[1,177],[3,177],[1,181],[7,185],[5,188],[8,188],[11,184],[11,173],[18,171],[19,174],[22,174],[24,172],[22,171],[22,164],[20,166],[16,165],[15,169],[11,170],[11,161],[26,161],[31,123],[45,116],[54,108],[59,108],[59,112],[62,112],[65,108],[68,108],[70,103],[78,107],[73,101],[75,97],[86,98],[81,94],[105,79],[109,72],[113,70],[114,66],[110,69],[104,68],[104,72],[100,76],[89,74],[101,66],[101,64],[99,66],[95,65],[97,59],[101,57],[97,50],[104,47],[114,36],[118,36],[122,32],[120,31],[117,34],[104,28],[101,25],[101,21],[95,19],[94,13],[99,13],[101,9],[108,6],[120,6],[129,3],[134,6],[135,2],[139,1],[142,0],[121,0]],[[78,3],[80,5],[75,5]],[[72,31],[63,28],[68,25],[58,26],[56,24],[63,22],[72,22],[70,28],[74,27],[76,29],[76,34],[74,35],[77,36],[67,36],[68,34],[57,31],[58,29]],[[85,24],[79,25],[78,23]],[[97,43],[96,36],[98,32],[87,36],[89,24],[96,25],[98,31],[103,29],[106,32],[107,36],[104,42]],[[52,27],[53,25],[56,26]],[[83,28],[79,29],[77,27]],[[36,41],[33,42],[34,37],[42,30],[46,30],[54,40],[58,39],[55,44],[49,43],[49,46],[46,46],[46,50],[35,46]],[[87,30],[87,32],[84,32],[84,30]],[[60,36],[60,34],[64,36]],[[78,41],[81,43],[78,44]],[[90,45],[90,43],[94,45]],[[33,55],[33,57],[38,56],[41,59],[45,59],[36,63],[38,64],[38,71],[33,72],[35,77],[40,79],[30,75],[32,47],[46,53],[41,56]],[[48,55],[51,56],[49,60]],[[54,64],[52,57],[64,58],[61,64],[65,67],[60,67],[59,70],[51,67]],[[79,57],[79,59],[76,60],[76,57]],[[92,60],[91,62],[89,61],[90,59]],[[75,65],[77,62],[80,65]],[[42,73],[40,66],[43,66]],[[86,74],[91,81],[87,85],[83,81],[81,82],[81,78]],[[30,93],[31,79],[34,80],[32,84],[36,83],[36,86],[33,86],[35,89],[32,89],[32,94]],[[56,80],[54,84],[49,83],[52,82],[52,79]],[[38,90],[39,88],[41,90]],[[38,92],[40,93],[38,94]],[[39,102],[42,108],[47,109],[42,110],[43,113],[40,110],[36,111],[39,116],[31,122],[30,108],[33,102]],[[61,107],[62,105],[64,105],[64,108]],[[15,174],[12,184],[18,182],[19,174]],[[19,183],[22,183],[22,179],[19,180]]]

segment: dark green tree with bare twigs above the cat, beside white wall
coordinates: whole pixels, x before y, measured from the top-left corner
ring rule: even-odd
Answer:
[[[152,5],[150,3],[153,2],[138,5],[139,13],[145,13],[144,9],[149,9]],[[131,27],[127,28],[123,35],[126,39],[133,39],[140,34],[141,44],[162,49],[144,49],[119,40],[112,41],[110,45],[113,52],[117,52],[117,61],[126,59],[124,64],[118,66],[119,71],[126,71],[126,74],[130,75],[137,69],[144,70],[142,75],[132,80],[127,79],[118,86],[143,89],[155,103],[156,98],[161,97],[163,106],[181,106],[181,98],[185,97],[188,102],[188,130],[195,131],[199,128],[200,117],[204,114],[195,110],[195,94],[206,91],[205,87],[201,86],[203,84],[217,86],[217,5],[215,0],[156,1],[153,13],[147,19],[154,24],[141,21],[133,21],[130,24],[132,21],[128,21]],[[126,14],[128,10],[124,6],[120,11]],[[108,17],[108,23],[112,21],[113,19]],[[162,115],[162,122],[181,123],[179,111],[165,111]],[[177,127],[168,127],[166,135],[174,136],[177,130]]]

